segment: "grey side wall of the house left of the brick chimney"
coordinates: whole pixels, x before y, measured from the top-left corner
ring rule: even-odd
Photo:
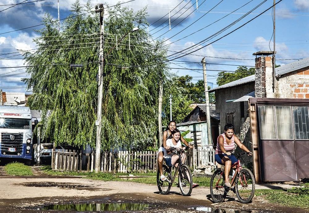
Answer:
[[[238,85],[235,87],[229,87],[226,89],[216,90],[216,112],[220,112],[220,132],[224,132],[224,126],[226,123],[226,114],[234,114],[234,126],[235,135],[239,136],[240,127],[245,121],[240,116],[240,104],[244,104],[245,117],[247,117],[248,103],[245,102],[226,102],[226,100],[238,99],[250,92],[254,91],[254,82],[245,85]],[[220,134],[221,134],[220,133]]]

